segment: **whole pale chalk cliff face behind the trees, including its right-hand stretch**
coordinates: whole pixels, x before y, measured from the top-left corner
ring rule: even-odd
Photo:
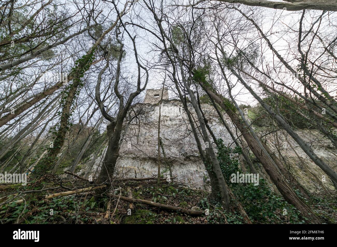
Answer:
[[[147,113],[140,116],[140,123],[131,124],[127,128],[116,166],[119,176],[148,177],[157,174],[159,105],[143,104],[142,107],[146,109]],[[220,124],[215,110],[206,104],[203,104],[202,108],[215,136],[222,138],[224,143],[231,144],[233,140]],[[191,112],[194,112],[193,109]],[[194,117],[194,119],[197,118]],[[230,123],[229,120],[227,122]],[[235,133],[235,127],[231,127]],[[298,133],[310,143],[321,159],[337,170],[337,153],[329,140],[325,140],[321,134],[313,130],[301,130]],[[261,131],[257,134],[264,136],[266,133]],[[200,159],[187,116],[178,100],[165,100],[161,106],[160,137],[166,156],[164,159],[161,151],[162,174],[164,176],[170,174],[168,169],[168,165],[170,165],[172,174],[177,176],[178,181],[193,187],[209,189],[208,174]],[[286,167],[298,177],[307,189],[311,191],[322,188],[333,189],[330,179],[326,177],[324,181],[325,173],[306,156],[297,143],[287,136],[286,132],[277,131],[277,133],[262,137],[262,140],[267,142],[283,163],[286,162]],[[280,154],[276,147],[280,147]],[[96,167],[92,171],[96,171],[99,161],[100,159],[96,160]],[[255,165],[257,170],[261,172],[260,176],[266,177],[258,163]]]

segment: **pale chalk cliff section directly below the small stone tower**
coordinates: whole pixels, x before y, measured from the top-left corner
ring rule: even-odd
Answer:
[[[205,114],[209,124],[215,129],[218,138],[229,141],[229,134],[224,127],[216,123],[215,112],[205,105]],[[158,105],[145,105],[149,114],[142,116],[140,125],[128,128],[125,141],[121,147],[118,160],[119,171],[124,176],[145,177],[158,172]],[[196,117],[195,117],[196,119]],[[165,158],[161,151],[161,171],[164,176],[172,175],[177,180],[190,186],[208,189],[208,174],[188,124],[187,116],[179,101],[165,101],[161,105],[160,137],[163,143]]]

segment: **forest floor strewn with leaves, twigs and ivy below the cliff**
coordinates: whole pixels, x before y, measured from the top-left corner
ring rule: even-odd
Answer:
[[[73,184],[73,183],[72,183]],[[49,185],[50,186],[50,185]],[[63,185],[64,188],[67,184]],[[77,181],[76,186],[79,186]],[[119,190],[119,188],[121,188]],[[25,196],[24,203],[11,202],[0,207],[1,223],[68,223],[68,224],[207,224],[207,223],[244,223],[242,217],[236,212],[226,212],[221,205],[211,199],[210,192],[191,189],[180,183],[156,181],[128,181],[113,187],[115,197],[105,198],[101,206],[93,200],[93,193],[74,194],[69,196],[45,199],[49,193],[29,193]],[[18,185],[0,188],[0,197],[6,194],[15,195]],[[64,192],[58,189],[52,193]],[[82,187],[83,188],[83,187]],[[127,190],[127,188],[131,188]],[[33,190],[41,187],[35,184]],[[128,210],[129,202],[118,200],[118,197],[127,197],[128,191],[132,191],[133,199],[143,199],[165,205],[176,206],[190,210],[209,210],[202,215],[187,215],[185,213],[159,209],[141,203],[134,203]],[[43,195],[42,195],[43,194]],[[337,222],[337,193],[336,191],[321,191],[311,195],[314,198],[310,205],[314,211],[323,217],[323,222]],[[275,197],[275,196],[274,196]],[[274,198],[273,197],[273,198]],[[275,197],[277,200],[278,197]],[[265,199],[264,199],[265,200]],[[0,203],[4,199],[0,198]],[[242,201],[242,200],[241,200]],[[258,205],[258,204],[261,205]],[[243,204],[248,216],[253,223],[304,223],[294,211],[284,214],[282,208],[270,207],[266,201]],[[282,202],[283,204],[286,202]],[[262,205],[263,204],[263,205]],[[270,201],[270,204],[275,204]],[[280,205],[283,205],[280,204]],[[104,206],[102,206],[104,205]],[[110,208],[107,208],[110,205]],[[252,211],[253,210],[253,211]],[[266,210],[268,212],[266,212]],[[251,214],[251,215],[250,215]]]

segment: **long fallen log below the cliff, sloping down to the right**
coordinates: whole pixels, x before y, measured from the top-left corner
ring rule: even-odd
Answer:
[[[152,206],[152,207],[158,207],[158,208],[163,208],[163,209],[172,210],[172,211],[176,211],[176,212],[182,212],[182,213],[189,214],[189,215],[205,214],[205,211],[203,211],[203,210],[189,210],[189,209],[179,208],[179,207],[175,207],[175,206],[171,206],[171,205],[151,202],[151,201],[147,201],[147,200],[143,200],[143,199],[133,199],[133,198],[128,198],[128,197],[125,197],[125,196],[117,196],[117,195],[111,195],[111,197],[119,198],[122,201],[130,202],[130,203],[141,203],[141,204],[149,205],[149,206]]]

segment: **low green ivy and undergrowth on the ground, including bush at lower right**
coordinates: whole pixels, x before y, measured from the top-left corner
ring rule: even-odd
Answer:
[[[230,164],[229,164],[230,166]],[[40,190],[47,183],[27,185],[24,190]],[[70,186],[65,183],[64,186]],[[249,218],[253,223],[304,223],[299,212],[291,205],[287,204],[276,193],[272,192],[267,182],[260,180],[259,186],[253,184],[229,184],[237,200],[245,208]],[[21,191],[20,186],[11,186],[12,193]],[[154,193],[154,194],[153,194]],[[126,191],[123,191],[126,194]],[[126,202],[120,201],[115,212],[115,218],[111,223],[128,224],[153,224],[153,223],[244,223],[242,216],[238,212],[227,212],[223,210],[221,204],[211,199],[210,194],[201,190],[192,190],[177,186],[177,184],[160,184],[142,187],[133,192],[134,198],[152,200],[163,199],[165,204],[179,205],[183,208],[194,210],[209,210],[209,215],[190,216],[180,212],[169,212],[136,204],[136,210],[127,215],[124,210]],[[12,198],[13,194],[8,197]],[[165,198],[166,199],[165,199]],[[92,197],[83,201],[84,198],[67,196],[45,200],[43,197],[34,194],[27,194],[26,203],[10,203],[0,207],[0,218],[2,223],[94,223],[98,215],[104,215],[106,208],[100,208]],[[160,199],[160,200],[161,200]],[[105,199],[106,202],[107,199]],[[335,223],[337,201],[333,191],[317,193],[312,197],[313,211],[323,217],[327,223]],[[53,214],[51,214],[53,209]],[[284,209],[287,215],[283,215]]]

